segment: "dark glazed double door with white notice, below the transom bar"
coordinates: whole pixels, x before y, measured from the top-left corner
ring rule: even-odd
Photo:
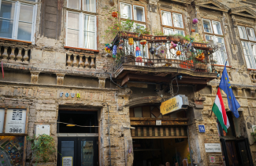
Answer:
[[[98,165],[98,137],[58,137],[58,152],[58,166]]]

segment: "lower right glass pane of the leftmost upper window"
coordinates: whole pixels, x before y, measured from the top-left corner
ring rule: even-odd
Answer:
[[[31,41],[32,23],[19,22],[17,39]]]

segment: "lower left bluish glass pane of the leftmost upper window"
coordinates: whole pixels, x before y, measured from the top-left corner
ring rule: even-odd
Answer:
[[[0,37],[12,38],[13,20],[0,19]]]

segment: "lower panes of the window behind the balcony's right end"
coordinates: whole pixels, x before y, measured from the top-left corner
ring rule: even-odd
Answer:
[[[218,46],[218,51],[213,52],[213,60],[215,60],[217,64],[224,65],[224,63],[228,59],[226,48],[224,45],[224,38],[206,34],[206,41],[213,42],[214,45]]]

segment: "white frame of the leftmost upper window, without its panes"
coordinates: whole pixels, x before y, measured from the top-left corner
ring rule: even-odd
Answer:
[[[9,39],[9,40],[13,40],[13,41],[17,41],[17,42],[28,42],[31,43],[32,45],[35,45],[35,24],[36,24],[36,16],[37,16],[37,3],[38,0],[35,0],[35,2],[30,2],[30,1],[14,1],[14,0],[0,0],[0,9],[2,6],[2,2],[13,2],[15,5],[14,8],[14,16],[13,16],[13,31],[12,31],[12,38],[5,38],[5,37],[0,37],[0,38],[4,38],[4,39]],[[32,16],[32,31],[31,31],[31,40],[27,41],[27,40],[22,40],[22,39],[18,39],[18,29],[19,29],[19,22],[20,22],[20,6],[21,5],[31,5],[33,6],[33,16]],[[5,20],[5,19],[3,19]],[[24,23],[27,23],[25,21],[21,21]]]

